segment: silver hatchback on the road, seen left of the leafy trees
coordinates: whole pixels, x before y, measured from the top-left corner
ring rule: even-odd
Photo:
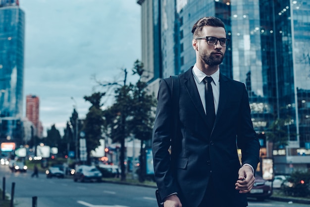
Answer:
[[[74,172],[73,181],[102,181],[102,173],[95,167],[89,165],[80,165]]]

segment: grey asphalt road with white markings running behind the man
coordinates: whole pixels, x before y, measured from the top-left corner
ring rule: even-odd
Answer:
[[[0,188],[5,177],[6,194],[15,183],[14,204],[30,207],[32,197],[38,197],[38,207],[156,207],[155,188],[112,183],[80,183],[71,178],[47,179],[45,174],[32,178],[32,171],[11,173],[7,165],[0,165]],[[1,198],[2,199],[2,198]],[[249,200],[249,207],[306,207],[266,200]]]

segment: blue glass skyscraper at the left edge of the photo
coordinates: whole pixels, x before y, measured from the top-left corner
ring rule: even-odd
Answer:
[[[0,0],[0,139],[22,139],[25,14],[18,0]],[[15,124],[17,123],[17,124]],[[14,132],[15,131],[15,132]]]

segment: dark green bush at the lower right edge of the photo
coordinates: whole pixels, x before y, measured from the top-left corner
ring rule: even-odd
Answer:
[[[282,186],[285,195],[294,197],[307,197],[310,195],[310,172],[295,171],[288,180],[293,185],[291,187]]]

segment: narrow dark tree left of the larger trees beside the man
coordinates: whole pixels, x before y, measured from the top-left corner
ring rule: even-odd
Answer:
[[[91,96],[84,96],[85,101],[92,105],[89,108],[86,118],[83,122],[82,131],[85,133],[87,160],[90,161],[89,156],[92,150],[100,146],[100,140],[103,139],[103,111],[101,109],[101,99],[104,93],[93,93]]]

